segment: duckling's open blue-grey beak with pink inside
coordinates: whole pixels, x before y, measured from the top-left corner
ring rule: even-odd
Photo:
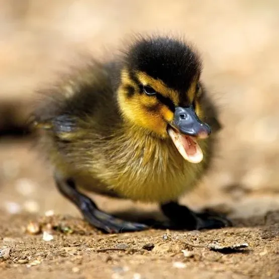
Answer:
[[[203,151],[196,139],[205,139],[210,133],[211,128],[199,119],[192,106],[175,108],[168,134],[185,160],[191,163],[199,163],[203,160]]]

